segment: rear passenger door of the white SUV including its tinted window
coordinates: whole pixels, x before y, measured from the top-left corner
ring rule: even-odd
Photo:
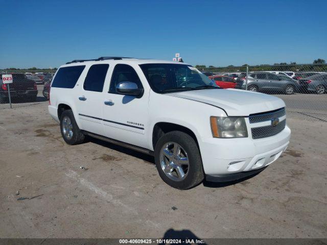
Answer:
[[[82,129],[104,135],[103,129],[103,85],[109,64],[94,64],[88,69],[84,83],[75,98]]]

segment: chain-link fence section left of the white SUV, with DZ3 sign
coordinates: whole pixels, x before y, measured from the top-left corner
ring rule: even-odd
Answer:
[[[54,72],[0,70],[0,109],[14,109],[48,101]]]

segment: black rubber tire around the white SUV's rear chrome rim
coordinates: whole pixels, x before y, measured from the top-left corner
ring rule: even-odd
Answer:
[[[71,138],[67,138],[67,136],[64,134],[64,130],[63,130],[63,124],[64,124],[64,119],[65,118],[69,118],[71,120],[71,124],[72,124],[72,132],[73,135]],[[74,113],[72,110],[65,110],[61,113],[60,116],[60,132],[61,132],[61,136],[63,138],[63,140],[67,143],[67,144],[81,144],[84,142],[85,139],[85,135],[82,133],[82,131],[79,129],[75,117],[74,117]]]

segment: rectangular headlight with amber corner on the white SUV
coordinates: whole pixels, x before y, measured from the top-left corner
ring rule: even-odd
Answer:
[[[244,138],[247,129],[244,117],[210,117],[211,131],[215,138]]]

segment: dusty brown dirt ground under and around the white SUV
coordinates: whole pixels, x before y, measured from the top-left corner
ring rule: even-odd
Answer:
[[[150,156],[65,144],[47,105],[0,110],[0,237],[327,237],[324,121],[289,116],[289,148],[262,173],[182,191]]]

